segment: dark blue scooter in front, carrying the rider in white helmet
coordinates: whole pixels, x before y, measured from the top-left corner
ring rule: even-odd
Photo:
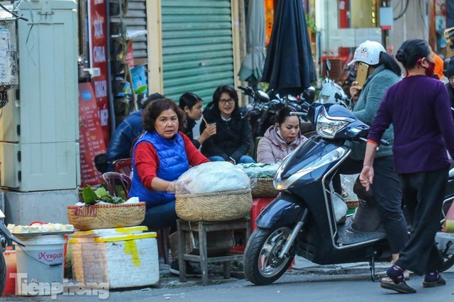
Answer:
[[[369,262],[375,281],[375,262],[392,258],[380,218],[371,216],[372,209],[358,208],[345,223],[337,223],[334,204],[338,195],[332,184],[351,152],[345,140],[364,143],[369,126],[337,104],[311,104],[307,116],[316,125],[317,135],[277,169],[274,186],[280,194],[255,220],[258,227],[243,256],[245,276],[253,284],[271,284],[284,274],[294,255],[299,255],[316,264]],[[443,213],[453,199],[451,178]],[[438,233],[437,242],[445,258],[443,270],[448,269],[454,264],[454,235]]]

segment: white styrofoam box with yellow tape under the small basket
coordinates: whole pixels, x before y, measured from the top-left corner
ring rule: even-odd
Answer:
[[[128,232],[128,229],[131,232]],[[159,281],[156,233],[133,228],[92,230],[70,240],[72,276],[109,289],[147,286]]]

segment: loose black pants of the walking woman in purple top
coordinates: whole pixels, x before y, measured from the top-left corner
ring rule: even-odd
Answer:
[[[410,239],[396,264],[419,275],[436,272],[443,264],[435,235],[440,230],[448,169],[402,174],[400,179],[404,203],[413,223]]]

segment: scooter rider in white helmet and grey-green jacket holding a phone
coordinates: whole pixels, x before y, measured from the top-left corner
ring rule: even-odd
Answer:
[[[368,70],[362,87],[358,86],[357,81],[350,86],[350,95],[355,103],[353,114],[363,123],[371,125],[385,91],[399,82],[401,69],[384,47],[375,41],[367,40],[358,45],[353,60],[348,65],[358,65],[359,62],[367,64]],[[384,133],[384,140],[392,144],[394,140],[392,126]],[[352,143],[351,147],[350,158],[341,166],[339,174],[357,174],[362,169],[365,144]],[[391,247],[392,260],[395,262],[399,258],[399,251],[408,240],[408,233],[402,212],[402,189],[399,177],[394,173],[392,145],[380,146],[375,155],[374,168],[376,179],[372,191]],[[340,183],[340,178],[336,177],[335,189],[341,194]]]

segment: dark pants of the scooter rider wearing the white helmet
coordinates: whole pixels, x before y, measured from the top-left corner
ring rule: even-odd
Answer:
[[[338,174],[357,174],[362,169],[362,161],[348,158],[341,165]],[[402,212],[402,189],[399,177],[394,172],[392,156],[374,160],[374,181],[372,191],[377,201],[380,219],[389,242],[392,254],[397,254],[409,239],[404,213]],[[336,179],[337,178],[337,179]],[[333,179],[335,191],[340,193],[340,177]]]

